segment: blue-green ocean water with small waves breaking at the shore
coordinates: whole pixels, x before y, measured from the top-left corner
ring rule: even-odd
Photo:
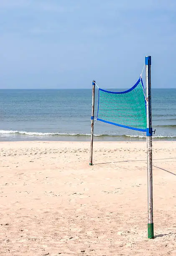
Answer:
[[[89,141],[91,105],[89,89],[0,90],[0,141]],[[176,140],[176,89],[152,90],[152,123],[154,140]],[[99,121],[94,135],[96,141],[145,140],[143,132]]]

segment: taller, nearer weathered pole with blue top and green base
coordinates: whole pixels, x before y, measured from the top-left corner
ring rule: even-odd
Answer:
[[[146,67],[146,114],[147,114],[147,179],[148,179],[148,238],[153,232],[153,177],[152,177],[152,115],[151,115],[151,56],[145,56]]]

